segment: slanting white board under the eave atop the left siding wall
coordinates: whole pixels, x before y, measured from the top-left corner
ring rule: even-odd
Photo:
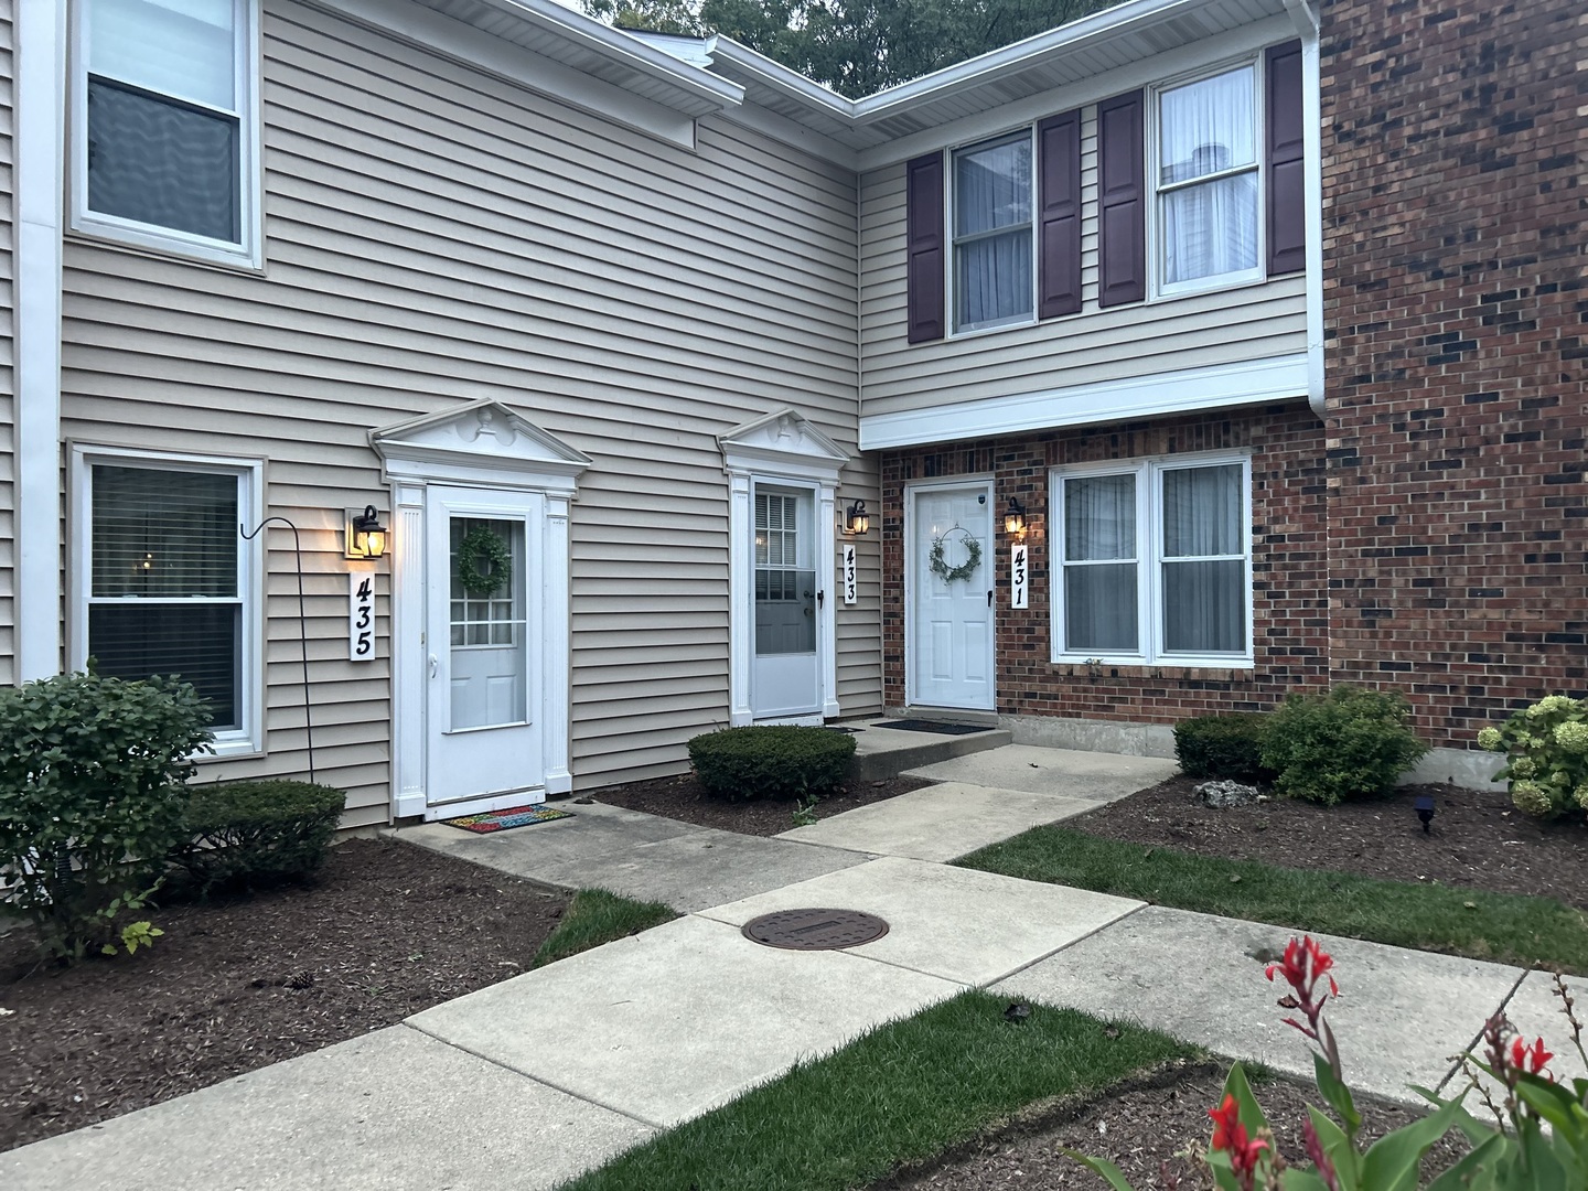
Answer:
[[[332,16],[389,33],[432,54],[610,119],[648,137],[694,149],[694,116],[602,83],[492,33],[405,0],[308,0]],[[737,91],[737,89],[735,89]],[[716,105],[721,106],[721,105]]]

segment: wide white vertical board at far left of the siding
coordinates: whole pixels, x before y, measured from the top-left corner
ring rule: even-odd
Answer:
[[[16,6],[16,676],[60,673],[65,5]]]

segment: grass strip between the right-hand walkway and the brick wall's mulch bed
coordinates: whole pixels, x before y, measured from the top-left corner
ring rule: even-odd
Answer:
[[[1588,973],[1588,916],[1548,897],[1278,869],[1034,827],[954,864],[1178,910]]]

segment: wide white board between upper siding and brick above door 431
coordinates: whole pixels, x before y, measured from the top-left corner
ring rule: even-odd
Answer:
[[[1301,400],[1307,395],[1307,354],[1186,368],[1069,389],[951,402],[900,413],[861,414],[861,449],[1053,430],[1158,418],[1234,405]]]

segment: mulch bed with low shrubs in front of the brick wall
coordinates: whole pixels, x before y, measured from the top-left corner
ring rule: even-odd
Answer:
[[[1170,778],[1062,826],[1199,856],[1332,869],[1391,881],[1440,881],[1491,892],[1555,897],[1588,908],[1588,824],[1540,821],[1505,794],[1459,786],[1401,786],[1386,799],[1321,807],[1274,799],[1213,810],[1196,778]],[[1412,804],[1434,796],[1432,834]]]

